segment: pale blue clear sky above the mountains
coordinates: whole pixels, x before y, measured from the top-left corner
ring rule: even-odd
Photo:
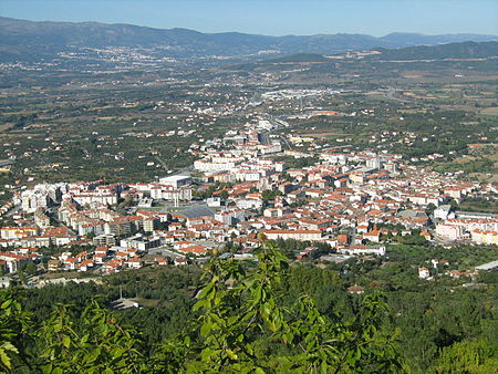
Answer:
[[[498,0],[0,0],[0,15],[272,35],[498,34]]]

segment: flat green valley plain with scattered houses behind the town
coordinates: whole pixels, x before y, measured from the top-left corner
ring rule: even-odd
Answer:
[[[497,137],[498,74],[488,61],[346,58],[304,69],[289,61],[110,72],[10,73],[9,80],[20,83],[0,92],[0,157],[15,158],[11,180],[153,179],[191,165],[190,147],[219,136],[226,126],[325,108],[340,115],[290,120],[279,135],[313,137],[324,147],[342,146],[335,139],[346,137],[352,147],[408,158],[436,152],[445,155],[445,168],[465,165],[478,173],[473,176],[494,180],[487,175],[494,173],[490,160],[477,160],[473,170],[471,163],[454,162],[469,153],[468,144]],[[268,91],[317,87],[339,93],[308,96],[301,104],[292,98],[247,106]]]

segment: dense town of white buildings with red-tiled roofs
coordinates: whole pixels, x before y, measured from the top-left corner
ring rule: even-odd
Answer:
[[[455,211],[450,205],[496,194],[496,186],[413,166],[386,150],[283,150],[282,142],[300,146],[312,138],[272,136],[279,125],[261,120],[193,144],[193,168],[154,181],[60,181],[18,189],[0,208],[12,222],[0,228],[0,268],[15,273],[34,262],[40,272],[106,274],[186,266],[227,242],[237,251],[226,256],[247,259],[261,245],[261,233],[268,240],[310,242],[294,253],[298,260],[326,246],[330,251],[313,259],[332,262],[386,256],[386,243],[396,236],[444,246],[498,245],[498,216]],[[318,160],[291,168],[276,155]],[[50,250],[45,262],[42,249]],[[432,277],[428,268],[419,268],[421,279]]]

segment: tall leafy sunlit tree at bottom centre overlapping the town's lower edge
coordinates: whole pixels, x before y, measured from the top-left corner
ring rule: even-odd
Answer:
[[[380,294],[365,298],[352,323],[322,315],[300,295],[292,309],[279,297],[288,263],[271,243],[257,251],[248,271],[237,261],[215,259],[195,310],[200,310],[198,356],[188,370],[216,372],[391,372],[401,367],[393,341],[378,332],[385,311]],[[263,337],[263,339],[262,339]],[[279,347],[269,354],[266,342]]]

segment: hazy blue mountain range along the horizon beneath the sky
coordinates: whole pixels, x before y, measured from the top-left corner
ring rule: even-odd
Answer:
[[[374,38],[364,34],[268,37],[238,32],[201,33],[186,29],[153,29],[96,22],[32,22],[0,18],[0,62],[41,61],[84,49],[133,48],[170,58],[260,56],[294,53],[333,54],[373,48],[393,49],[455,41],[498,40],[495,35],[421,35]]]

